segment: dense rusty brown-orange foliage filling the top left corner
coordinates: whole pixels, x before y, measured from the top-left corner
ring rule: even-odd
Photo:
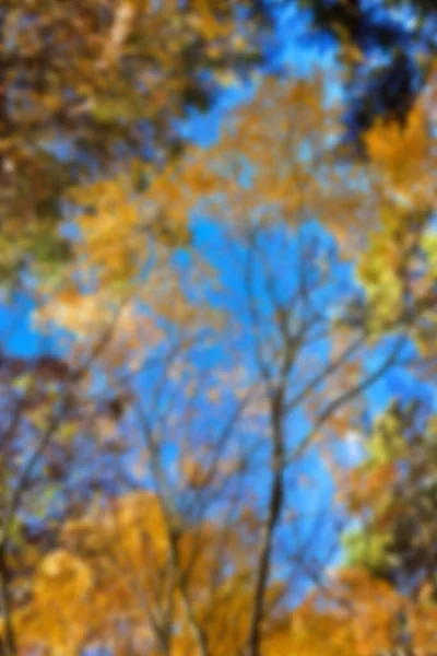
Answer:
[[[176,120],[260,62],[271,25],[268,3],[245,0],[3,2],[2,279],[62,263],[64,189],[177,154]]]

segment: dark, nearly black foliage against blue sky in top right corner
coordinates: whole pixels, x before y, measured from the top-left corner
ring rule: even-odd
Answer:
[[[378,117],[403,125],[434,70],[437,11],[433,0],[299,0],[345,65],[349,137]]]

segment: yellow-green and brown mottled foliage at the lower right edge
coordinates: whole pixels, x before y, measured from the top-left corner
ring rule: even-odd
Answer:
[[[436,422],[423,414],[420,405],[392,403],[376,422],[368,456],[351,472],[345,493],[352,512],[366,517],[349,537],[351,561],[413,598],[425,588],[435,596],[437,584]]]

